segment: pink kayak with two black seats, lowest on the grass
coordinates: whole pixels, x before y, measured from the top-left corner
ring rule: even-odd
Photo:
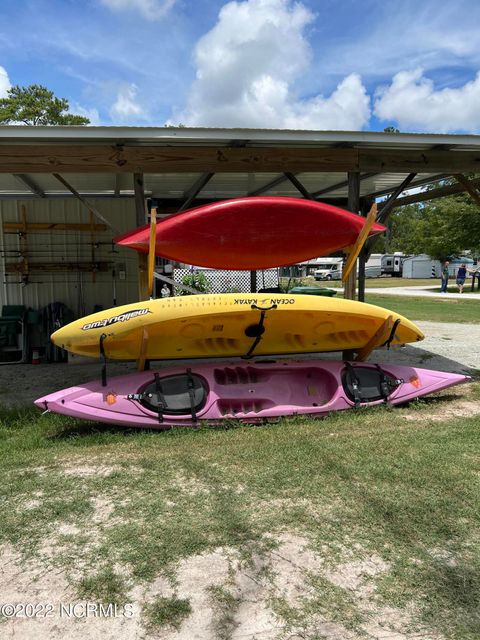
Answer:
[[[143,371],[39,398],[40,409],[108,424],[164,428],[226,419],[259,422],[397,405],[470,380],[391,364],[303,360],[198,364]]]

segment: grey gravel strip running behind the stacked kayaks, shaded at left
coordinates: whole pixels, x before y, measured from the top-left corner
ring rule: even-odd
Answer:
[[[396,362],[439,371],[471,373],[480,370],[480,324],[418,322],[425,340],[403,348],[378,349],[371,362]],[[321,354],[321,358],[338,358],[340,354]],[[199,362],[200,360],[197,360]],[[178,361],[177,361],[178,362]],[[191,361],[190,361],[191,362]],[[244,361],[242,361],[244,362]],[[168,366],[168,362],[162,366]],[[0,403],[28,406],[37,398],[60,389],[100,378],[98,360],[77,364],[16,364],[0,366]],[[111,362],[108,375],[135,371],[134,363]]]

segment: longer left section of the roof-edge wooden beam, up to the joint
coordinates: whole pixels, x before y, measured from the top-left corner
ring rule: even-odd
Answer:
[[[354,171],[356,149],[0,144],[0,173]]]

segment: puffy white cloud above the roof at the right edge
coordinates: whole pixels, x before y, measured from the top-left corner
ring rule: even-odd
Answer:
[[[448,133],[480,131],[480,73],[456,89],[436,91],[422,69],[397,73],[377,90],[375,115],[401,130]]]

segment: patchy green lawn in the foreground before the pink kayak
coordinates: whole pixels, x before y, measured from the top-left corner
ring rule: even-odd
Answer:
[[[295,535],[323,564],[296,601],[269,591],[287,636],[321,637],[321,612],[362,637],[376,610],[407,607],[417,630],[478,639],[480,417],[445,414],[458,397],[478,403],[480,383],[458,389],[408,409],[165,433],[4,412],[0,543],[38,558],[48,542],[79,597],[128,602],[160,575],[175,590],[179,560],[218,548],[273,585],[272,553]],[[371,558],[383,568],[361,578],[371,587],[361,597],[329,578]],[[218,637],[247,597],[233,574],[210,588]],[[144,626],[179,628],[192,606],[161,595]]]

